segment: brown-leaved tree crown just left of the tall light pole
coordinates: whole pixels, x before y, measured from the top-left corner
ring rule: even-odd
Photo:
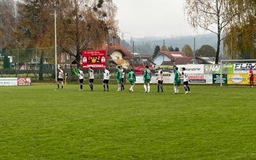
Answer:
[[[54,26],[51,1],[23,0],[19,5],[19,41],[24,47],[52,47]]]

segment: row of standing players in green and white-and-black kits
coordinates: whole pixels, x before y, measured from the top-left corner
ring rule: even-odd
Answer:
[[[124,82],[125,82],[125,71],[122,68],[122,65],[116,67],[116,81],[118,84],[117,90],[118,92],[124,91]],[[185,94],[190,93],[189,88],[189,79],[188,79],[188,73],[186,72],[186,68],[182,68],[182,72],[180,73],[178,67],[174,67],[174,94],[179,93],[179,86],[181,83],[181,79],[183,78],[183,84],[185,89]],[[158,67],[158,76],[157,76],[157,92],[164,92],[163,90],[163,70],[161,70],[161,67]],[[61,69],[61,67],[58,68],[58,81],[57,81],[57,89],[60,88],[61,83],[61,89],[63,89],[63,75],[64,72]],[[81,70],[81,67],[78,68],[78,79],[80,84],[80,91],[83,90],[83,82],[84,82],[84,72]],[[103,88],[104,92],[109,91],[109,79],[110,79],[110,72],[107,68],[104,68],[104,74],[103,74]],[[145,67],[144,74],[143,74],[143,81],[144,81],[144,89],[145,93],[150,92],[150,81],[152,78],[152,74],[150,72],[150,69],[148,66]],[[94,71],[93,68],[90,67],[88,70],[88,83],[90,87],[90,91],[93,92],[93,81],[94,81]],[[136,82],[136,75],[134,70],[131,68],[130,72],[127,74],[127,81],[130,83],[129,92],[133,92],[134,84]]]

